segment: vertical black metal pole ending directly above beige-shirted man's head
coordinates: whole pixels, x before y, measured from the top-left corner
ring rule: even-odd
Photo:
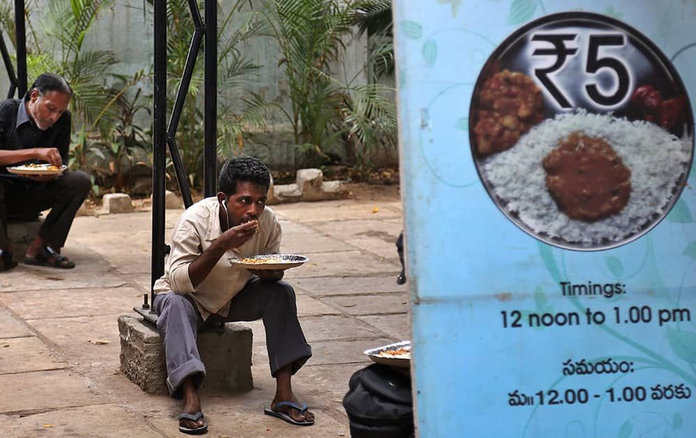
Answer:
[[[217,192],[217,1],[205,0],[204,193]]]

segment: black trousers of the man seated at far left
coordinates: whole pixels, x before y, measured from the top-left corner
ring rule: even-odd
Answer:
[[[80,171],[65,172],[47,182],[0,177],[0,248],[10,246],[8,217],[29,220],[47,209],[51,211],[41,225],[39,235],[55,250],[63,248],[72,220],[90,187],[89,175]]]

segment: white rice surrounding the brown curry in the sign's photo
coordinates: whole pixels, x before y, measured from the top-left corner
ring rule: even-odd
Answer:
[[[631,195],[619,213],[583,222],[558,209],[546,186],[544,157],[573,132],[601,138],[631,170]],[[532,128],[519,142],[482,160],[480,172],[502,209],[535,233],[580,246],[608,245],[640,232],[665,213],[690,162],[690,141],[644,121],[586,111],[565,113]]]

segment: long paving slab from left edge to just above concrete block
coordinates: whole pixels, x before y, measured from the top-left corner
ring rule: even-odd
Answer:
[[[134,300],[141,299],[141,292],[130,287],[0,294],[0,302],[24,319],[126,313],[132,311]]]

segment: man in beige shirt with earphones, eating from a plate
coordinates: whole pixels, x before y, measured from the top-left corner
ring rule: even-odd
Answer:
[[[181,432],[207,430],[198,396],[205,366],[196,346],[196,332],[204,321],[261,318],[271,375],[276,378],[276,395],[264,413],[296,425],[314,423],[314,414],[292,393],[292,375],[312,356],[312,349],[297,320],[294,291],[280,281],[283,270],[247,270],[228,261],[280,250],[280,224],[266,207],[269,184],[269,171],[261,161],[232,158],[220,171],[216,197],[190,206],[174,227],[152,307],[159,315],[167,386],[172,396],[184,398]]]

